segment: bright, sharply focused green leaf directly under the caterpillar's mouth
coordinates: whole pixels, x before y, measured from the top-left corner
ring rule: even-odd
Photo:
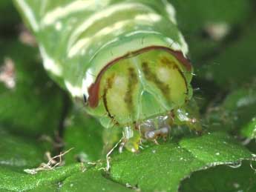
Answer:
[[[253,159],[252,153],[225,133],[211,133],[115,156],[111,178],[142,191],[177,191],[194,171],[243,159]]]

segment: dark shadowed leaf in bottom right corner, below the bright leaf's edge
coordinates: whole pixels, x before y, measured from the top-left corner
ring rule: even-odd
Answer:
[[[256,191],[255,179],[256,174],[248,162],[238,164],[237,168],[220,165],[193,173],[184,180],[180,191]]]

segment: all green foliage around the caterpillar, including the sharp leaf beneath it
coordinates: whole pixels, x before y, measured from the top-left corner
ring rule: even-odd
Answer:
[[[116,153],[105,173],[104,161],[87,163],[102,159],[101,125],[50,80],[37,48],[19,39],[22,21],[12,2],[0,1],[0,66],[10,58],[16,68],[14,89],[0,82],[0,191],[256,191],[255,1],[171,3],[190,47],[207,133]],[[220,23],[229,33],[214,40],[206,26]],[[24,172],[47,162],[46,151],[69,148],[64,166]]]

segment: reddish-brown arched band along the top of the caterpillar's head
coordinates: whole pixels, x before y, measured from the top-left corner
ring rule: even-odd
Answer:
[[[96,77],[96,81],[88,88],[89,106],[92,108],[95,108],[99,104],[99,84],[100,84],[103,74],[105,73],[106,70],[108,70],[108,67],[111,67],[113,64],[115,64],[116,62],[118,62],[121,59],[126,59],[131,56],[136,56],[138,54],[145,53],[149,50],[165,50],[165,51],[171,53],[171,55],[173,55],[181,64],[183,64],[183,66],[186,67],[186,70],[188,70],[188,72],[191,71],[191,68],[192,68],[191,62],[188,59],[186,59],[185,56],[183,56],[183,53],[181,51],[171,50],[169,47],[151,46],[151,47],[142,48],[140,50],[135,50],[134,52],[131,52],[131,53],[126,53],[124,56],[120,56],[120,57],[114,59],[113,61],[109,62],[108,64],[106,64],[102,68],[102,70],[99,72],[99,75]]]

